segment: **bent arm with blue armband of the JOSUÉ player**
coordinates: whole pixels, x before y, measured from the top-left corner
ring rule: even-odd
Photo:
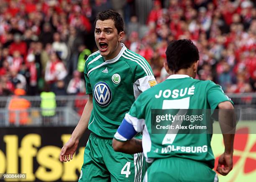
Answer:
[[[118,128],[114,139],[113,149],[116,152],[123,152],[126,154],[135,154],[142,152],[142,142],[140,139],[135,139],[138,132],[133,128],[133,124],[123,119],[123,122]]]

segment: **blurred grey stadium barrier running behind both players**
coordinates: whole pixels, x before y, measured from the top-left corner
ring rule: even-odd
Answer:
[[[240,120],[254,120],[256,118],[256,93],[229,94],[235,104],[235,108],[241,111]],[[23,96],[31,106],[26,109],[25,116],[28,126],[75,126],[79,121],[88,96],[56,96],[56,109],[52,117],[42,117],[40,108],[41,98],[39,96]],[[20,125],[23,120],[22,110],[15,111],[15,121],[10,123],[10,111],[8,106],[11,97],[0,97],[0,126]],[[44,110],[45,111],[45,110]]]

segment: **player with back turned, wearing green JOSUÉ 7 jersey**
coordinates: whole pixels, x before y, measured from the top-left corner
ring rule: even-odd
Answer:
[[[154,125],[151,125],[151,109],[219,109],[219,112],[230,109],[233,112],[233,102],[219,85],[195,79],[199,53],[191,40],[172,41],[167,48],[166,58],[164,67],[168,73],[174,74],[136,99],[114,136],[113,148],[129,154],[143,150],[146,162],[150,163],[144,181],[218,181],[217,174],[212,170],[212,135],[152,134]],[[190,92],[188,88],[192,88]],[[180,94],[169,94],[166,98],[168,92],[165,91],[175,89]],[[219,121],[220,119],[223,118],[219,113]],[[221,129],[225,129],[224,124],[232,124],[233,119],[230,120],[224,118],[223,124],[220,122]],[[138,132],[143,132],[142,142],[133,139]],[[220,156],[217,171],[226,175],[233,167],[234,134],[225,133],[223,139],[225,152]]]

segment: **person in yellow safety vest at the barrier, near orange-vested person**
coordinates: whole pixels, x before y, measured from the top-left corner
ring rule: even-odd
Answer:
[[[49,89],[45,88],[45,91],[41,92],[40,97],[40,107],[43,124],[50,124],[53,122],[53,117],[56,113],[56,95],[54,94],[54,92],[51,92],[49,91]]]

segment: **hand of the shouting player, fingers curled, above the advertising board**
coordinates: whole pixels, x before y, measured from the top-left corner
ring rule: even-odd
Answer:
[[[73,155],[77,150],[79,140],[72,140],[69,139],[69,141],[64,144],[64,146],[61,149],[61,153],[59,154],[59,160],[61,162],[67,162],[70,161],[70,159],[73,159]],[[70,155],[70,159],[69,159]]]

